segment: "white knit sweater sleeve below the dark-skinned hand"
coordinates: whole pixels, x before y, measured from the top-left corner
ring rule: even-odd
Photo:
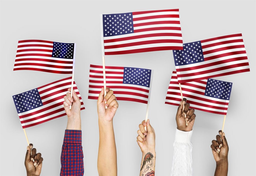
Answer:
[[[176,129],[174,141],[174,156],[172,166],[172,176],[193,175],[192,170],[192,143],[191,131],[180,131]]]

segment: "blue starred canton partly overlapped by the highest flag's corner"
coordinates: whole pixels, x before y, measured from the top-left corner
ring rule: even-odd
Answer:
[[[195,64],[204,61],[200,41],[184,43],[183,50],[173,50],[175,66]]]

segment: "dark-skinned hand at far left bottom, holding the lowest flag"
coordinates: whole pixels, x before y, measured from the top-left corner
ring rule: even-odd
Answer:
[[[27,152],[24,162],[27,176],[40,175],[42,169],[42,161],[43,158],[41,157],[41,153],[36,153],[36,149],[33,148],[33,144],[29,144],[29,147],[27,146]]]

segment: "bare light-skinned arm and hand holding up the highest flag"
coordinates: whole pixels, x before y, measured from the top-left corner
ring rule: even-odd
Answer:
[[[106,92],[107,94],[104,97],[104,89],[102,88],[97,101],[100,132],[98,172],[100,176],[115,176],[117,175],[117,164],[113,117],[118,108],[118,103],[112,90],[107,87]],[[105,106],[108,108],[105,109]]]

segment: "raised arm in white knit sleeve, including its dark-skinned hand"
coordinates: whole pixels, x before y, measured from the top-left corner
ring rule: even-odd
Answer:
[[[190,105],[186,101],[187,99],[183,98],[176,114],[177,129],[173,144],[174,156],[171,175],[193,175],[191,136],[196,115],[194,109],[189,109]],[[186,118],[184,114],[186,114]]]

